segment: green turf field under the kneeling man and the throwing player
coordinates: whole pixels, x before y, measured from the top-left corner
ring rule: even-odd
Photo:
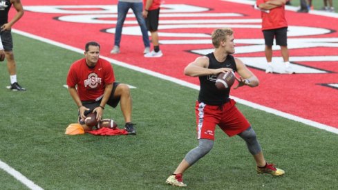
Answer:
[[[19,83],[6,89],[0,64],[0,160],[44,189],[173,189],[165,180],[197,145],[198,91],[114,66],[132,89],[137,135],[64,135],[77,106],[64,84],[70,64],[83,55],[14,35]],[[216,130],[214,149],[184,175],[189,189],[337,189],[338,136],[238,104],[259,137],[265,158],[286,171],[257,175],[240,137]],[[120,109],[106,108],[122,127]],[[1,189],[25,189],[0,169]]]

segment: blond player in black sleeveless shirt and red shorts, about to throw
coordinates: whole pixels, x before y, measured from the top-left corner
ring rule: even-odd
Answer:
[[[185,75],[199,77],[200,92],[196,101],[196,131],[198,146],[185,155],[172,175],[167,178],[167,184],[178,187],[186,187],[182,181],[182,174],[192,164],[203,158],[214,146],[214,133],[216,125],[229,137],[239,135],[247,144],[247,148],[256,161],[258,173],[270,173],[271,175],[283,175],[285,172],[267,164],[261,145],[256,139],[256,133],[252,126],[238,111],[234,99],[229,98],[230,88],[218,90],[215,86],[219,73],[237,72],[238,84],[241,86],[255,87],[259,85],[259,79],[252,73],[240,59],[232,56],[234,53],[234,32],[231,28],[218,28],[212,32],[212,44],[214,52],[203,57],[198,57],[185,68]]]

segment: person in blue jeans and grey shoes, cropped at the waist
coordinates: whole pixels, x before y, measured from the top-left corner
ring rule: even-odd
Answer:
[[[142,17],[142,10],[143,10],[143,3],[142,0],[119,0],[118,1],[118,23],[116,23],[116,30],[115,30],[115,42],[113,50],[111,50],[111,54],[120,53],[120,42],[122,36],[122,27],[124,20],[126,19],[126,14],[128,13],[129,9],[133,10],[134,15],[138,21],[138,25],[141,28],[142,32],[142,39],[144,44],[144,51],[143,53],[150,52],[150,41],[148,30],[146,26],[146,22]]]

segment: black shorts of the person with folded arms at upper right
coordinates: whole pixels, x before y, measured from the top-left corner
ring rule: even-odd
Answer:
[[[272,30],[263,30],[264,40],[266,46],[274,45],[274,38],[276,37],[276,45],[288,46],[287,43],[288,27],[277,28]]]

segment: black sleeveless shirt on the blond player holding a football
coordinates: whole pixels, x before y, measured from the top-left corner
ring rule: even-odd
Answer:
[[[235,59],[232,55],[227,55],[227,58],[223,62],[218,62],[214,53],[206,55],[209,58],[208,68],[232,68],[237,71]],[[205,75],[200,76],[200,93],[198,95],[198,102],[203,102],[208,105],[221,105],[229,102],[230,88],[225,90],[218,90],[215,86],[217,75]]]

